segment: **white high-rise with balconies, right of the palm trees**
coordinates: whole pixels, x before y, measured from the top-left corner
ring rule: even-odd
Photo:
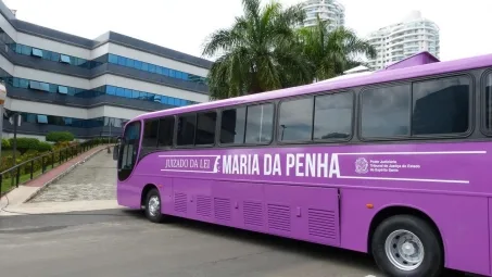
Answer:
[[[380,70],[421,51],[439,58],[439,27],[436,23],[412,12],[403,22],[380,28],[368,36],[369,43],[377,50],[377,58],[369,66]]]

